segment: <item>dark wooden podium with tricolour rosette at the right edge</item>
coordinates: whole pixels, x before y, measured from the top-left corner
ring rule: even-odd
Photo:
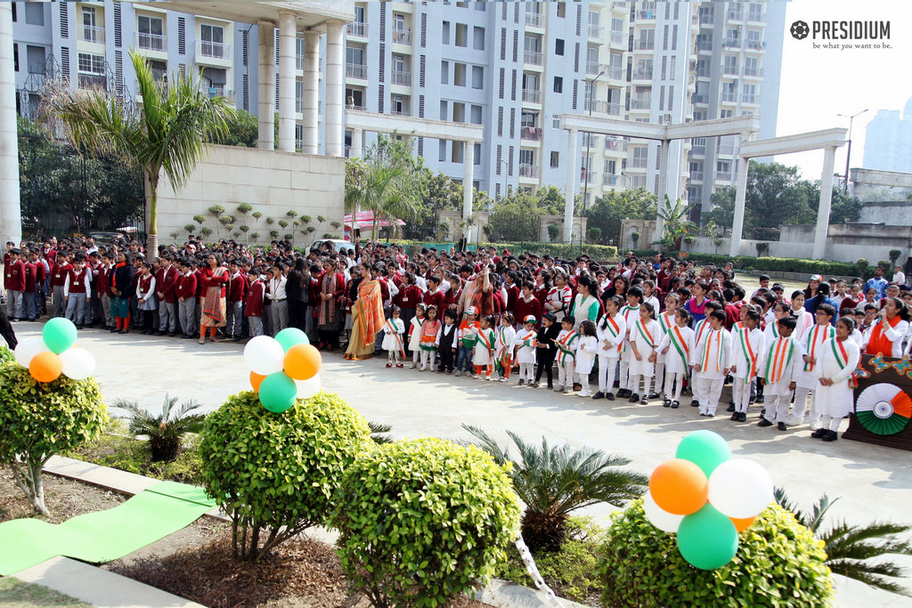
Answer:
[[[894,359],[880,355],[862,355],[855,377],[858,382],[858,386],[855,387],[855,408],[865,389],[878,384],[897,386],[912,397],[912,360],[908,356]],[[849,428],[843,433],[843,438],[912,451],[912,423],[907,423],[898,432],[883,435],[865,427],[857,411],[853,411],[849,416]]]

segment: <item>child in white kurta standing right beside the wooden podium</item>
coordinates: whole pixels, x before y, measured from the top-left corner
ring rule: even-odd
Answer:
[[[836,336],[824,344],[823,356],[816,366],[820,386],[817,386],[817,413],[820,428],[811,437],[835,441],[839,423],[852,411],[853,395],[851,377],[861,359],[861,349],[849,337],[855,321],[840,319],[836,323]]]

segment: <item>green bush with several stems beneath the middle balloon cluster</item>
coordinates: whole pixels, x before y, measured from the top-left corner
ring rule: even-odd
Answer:
[[[326,520],[343,472],[368,448],[370,428],[335,393],[320,391],[274,414],[248,391],[207,416],[200,436],[202,485],[232,518],[235,554],[258,561]]]

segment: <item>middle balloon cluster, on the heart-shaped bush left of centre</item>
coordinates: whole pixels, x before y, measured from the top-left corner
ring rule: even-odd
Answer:
[[[251,369],[250,386],[271,412],[284,412],[295,399],[309,399],[320,390],[323,358],[296,327],[283,329],[275,338],[257,335],[244,346],[244,361]]]

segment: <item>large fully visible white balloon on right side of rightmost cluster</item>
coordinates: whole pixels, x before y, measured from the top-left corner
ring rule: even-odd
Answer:
[[[731,459],[712,471],[707,500],[723,515],[746,520],[770,505],[772,491],[772,477],[760,463]]]

